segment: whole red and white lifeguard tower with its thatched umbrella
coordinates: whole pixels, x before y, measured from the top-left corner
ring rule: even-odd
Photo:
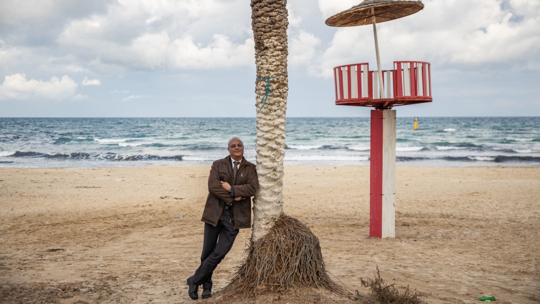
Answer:
[[[336,105],[373,107],[370,134],[369,237],[395,237],[396,111],[394,106],[431,102],[431,65],[395,61],[381,70],[376,23],[423,9],[420,1],[365,0],[326,20],[330,26],[373,24],[377,70],[368,63],[334,67]]]

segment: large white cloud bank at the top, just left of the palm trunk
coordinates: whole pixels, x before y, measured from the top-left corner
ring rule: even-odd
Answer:
[[[70,21],[58,43],[89,62],[127,69],[246,66],[254,61],[249,9],[244,1],[123,0]]]

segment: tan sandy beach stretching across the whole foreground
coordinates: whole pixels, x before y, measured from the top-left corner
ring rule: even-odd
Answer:
[[[209,166],[0,168],[0,303],[191,303]],[[327,270],[428,303],[540,302],[540,167],[397,167],[396,238],[370,239],[369,167],[285,167],[286,214]],[[242,229],[214,293],[244,258]],[[216,294],[217,295],[217,294]]]

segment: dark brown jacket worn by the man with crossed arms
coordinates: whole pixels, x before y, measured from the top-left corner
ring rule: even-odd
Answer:
[[[249,163],[244,157],[238,166],[238,175],[234,185],[232,171],[231,156],[218,159],[212,164],[210,175],[208,175],[208,197],[201,221],[215,227],[225,212],[225,204],[232,203],[234,229],[249,228],[251,227],[251,197],[259,188],[257,171],[255,171],[255,165]],[[221,181],[226,181],[234,187],[235,196],[245,197],[245,199],[234,201],[231,192],[221,187]]]

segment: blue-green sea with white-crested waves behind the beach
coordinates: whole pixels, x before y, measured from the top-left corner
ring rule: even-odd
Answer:
[[[540,117],[396,119],[397,166],[540,166]],[[0,167],[210,165],[255,118],[0,118]],[[287,118],[285,165],[369,166],[370,118]]]

